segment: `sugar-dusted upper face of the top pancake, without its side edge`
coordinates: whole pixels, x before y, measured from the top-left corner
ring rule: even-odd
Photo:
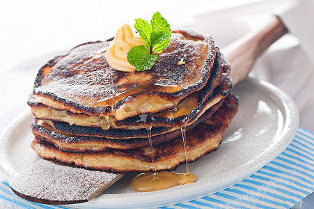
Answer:
[[[208,53],[213,51],[212,47],[201,37],[198,39],[187,34],[173,33],[170,45],[159,54],[159,60],[152,69],[144,72],[120,72],[107,63],[104,56],[107,46],[104,42],[86,43],[75,47],[68,55],[40,73],[33,92],[49,95],[53,100],[61,99],[65,104],[72,105],[73,102],[93,109],[97,108],[95,102],[99,100],[110,102],[102,102],[103,107],[112,107],[116,102],[111,104],[109,98],[145,82],[197,90],[209,76],[208,69],[203,66],[207,56],[214,59],[214,54]],[[178,65],[181,59],[185,65]],[[138,91],[146,92],[147,89],[139,88]],[[158,92],[152,91],[154,94]]]

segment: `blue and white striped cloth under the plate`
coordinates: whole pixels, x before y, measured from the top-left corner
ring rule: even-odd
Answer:
[[[281,155],[241,183],[221,192],[162,208],[291,208],[314,190],[314,133],[298,129]],[[65,208],[31,203],[1,182],[0,199],[19,208]]]

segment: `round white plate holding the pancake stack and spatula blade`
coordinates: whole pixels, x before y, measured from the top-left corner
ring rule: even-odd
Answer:
[[[134,192],[128,174],[87,203],[72,208],[142,208],[168,206],[219,192],[258,171],[279,155],[295,136],[299,114],[295,103],[275,86],[246,79],[233,93],[240,98],[237,116],[223,134],[217,151],[189,164],[198,177],[196,183],[158,192]],[[31,150],[30,113],[17,118],[3,134],[1,167],[12,178],[39,157]],[[178,172],[184,172],[185,166]],[[8,179],[10,180],[10,179]]]

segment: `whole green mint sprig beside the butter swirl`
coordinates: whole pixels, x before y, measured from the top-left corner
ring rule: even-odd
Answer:
[[[162,52],[169,45],[171,38],[170,25],[159,12],[152,15],[150,24],[146,20],[136,19],[135,29],[143,38],[145,45],[135,46],[127,52],[127,61],[137,71],[150,70],[159,58],[156,53]]]

